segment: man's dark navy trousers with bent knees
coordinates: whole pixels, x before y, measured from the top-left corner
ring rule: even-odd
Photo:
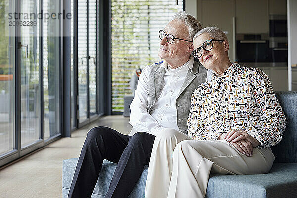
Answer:
[[[155,136],[138,132],[123,135],[108,127],[94,127],[82,148],[68,198],[90,198],[103,159],[117,163],[105,198],[127,198],[145,164],[149,164]]]

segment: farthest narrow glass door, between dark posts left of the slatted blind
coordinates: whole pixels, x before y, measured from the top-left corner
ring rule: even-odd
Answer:
[[[78,1],[79,123],[97,114],[96,0]]]

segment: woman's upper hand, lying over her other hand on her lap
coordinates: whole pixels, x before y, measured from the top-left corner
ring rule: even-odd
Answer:
[[[247,140],[252,144],[252,147],[257,147],[260,145],[259,141],[249,135],[245,130],[230,130],[225,135],[225,139],[230,143],[236,143],[240,140]]]

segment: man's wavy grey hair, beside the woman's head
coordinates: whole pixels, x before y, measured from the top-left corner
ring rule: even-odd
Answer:
[[[188,26],[189,31],[189,40],[192,40],[195,33],[202,29],[200,22],[192,15],[188,14],[185,11],[177,12],[173,19],[183,21]]]

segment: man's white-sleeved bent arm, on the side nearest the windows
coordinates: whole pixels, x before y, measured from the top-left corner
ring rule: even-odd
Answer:
[[[148,79],[150,71],[151,66],[146,66],[139,76],[134,99],[130,105],[130,124],[139,131],[156,135],[164,127],[148,113]]]

